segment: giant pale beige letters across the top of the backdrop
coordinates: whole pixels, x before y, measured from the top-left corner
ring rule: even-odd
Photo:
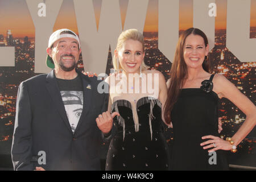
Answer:
[[[86,71],[104,73],[109,52],[123,30],[143,32],[149,0],[129,0],[122,28],[119,0],[102,0],[97,30],[92,1],[73,1]],[[35,26],[35,73],[49,72],[46,47],[63,0],[26,0]],[[241,62],[256,61],[256,39],[250,39],[250,0],[227,0],[226,47]],[[179,37],[179,0],[159,0],[158,48],[172,61]],[[203,30],[214,47],[216,4],[214,0],[193,0],[193,27]],[[242,12],[242,13],[238,13]],[[1,66],[15,66],[14,47],[0,47]],[[105,61],[105,64],[103,64]]]

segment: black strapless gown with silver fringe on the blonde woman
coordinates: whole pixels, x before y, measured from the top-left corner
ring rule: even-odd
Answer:
[[[112,112],[115,135],[112,138],[106,170],[168,170],[168,146],[163,135],[161,103],[152,97],[137,102],[138,124],[134,123],[131,104],[117,100]]]

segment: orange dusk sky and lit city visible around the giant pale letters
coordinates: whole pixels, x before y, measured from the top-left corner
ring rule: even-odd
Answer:
[[[9,3],[8,3],[9,2]],[[15,47],[15,67],[0,68],[0,155],[6,155],[10,159],[10,148],[15,120],[16,94],[20,82],[38,75],[34,73],[35,58],[35,28],[27,9],[26,1],[1,1],[0,0],[0,47]],[[19,2],[19,3],[17,3]],[[64,0],[59,16],[56,19],[53,31],[59,28],[70,28],[77,31],[73,1]],[[122,22],[125,22],[127,0],[120,0]],[[93,0],[96,14],[96,22],[100,19],[101,0]],[[226,48],[226,0],[216,0],[217,17],[215,30],[215,47],[210,51],[211,73],[221,73],[229,81],[233,82],[240,91],[254,104],[256,102],[256,62],[242,63]],[[6,7],[3,10],[3,5]],[[16,18],[8,15],[8,7],[22,7],[26,13],[20,18],[28,19],[6,24]],[[192,1],[180,1],[180,32],[192,27]],[[20,8],[20,9],[22,9]],[[67,13],[68,11],[68,13]],[[5,14],[5,16],[3,16]],[[16,13],[15,13],[16,14]],[[29,20],[30,19],[30,20]],[[65,21],[64,21],[65,20]],[[3,22],[3,23],[2,23]],[[19,22],[19,23],[17,23]],[[23,24],[22,24],[23,23]],[[256,38],[256,0],[251,0],[250,38]],[[18,28],[20,27],[20,28]],[[26,27],[26,28],[25,28]],[[171,62],[158,49],[158,0],[150,0],[144,27],[144,39],[146,43],[145,63],[150,69],[158,69],[168,79]],[[109,52],[106,73],[112,68],[112,56]],[[82,56],[79,60],[79,69],[84,70]],[[219,114],[222,118],[223,130],[221,135],[232,137],[245,121],[245,115],[232,102],[221,99],[219,102]],[[165,129],[165,135],[169,146],[172,144],[172,129]],[[105,146],[107,144],[104,144]],[[229,155],[232,164],[256,167],[256,131],[255,129],[240,143],[238,152]],[[0,162],[3,160],[0,156]]]

